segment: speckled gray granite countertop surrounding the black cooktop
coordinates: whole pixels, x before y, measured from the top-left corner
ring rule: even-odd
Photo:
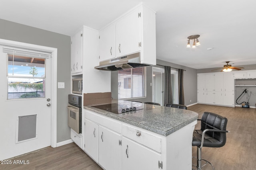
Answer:
[[[113,100],[112,103],[117,103],[119,101],[121,100]],[[92,107],[94,105],[84,106],[84,109],[152,131],[154,133],[158,133],[163,136],[168,136],[198,119],[198,113],[190,110],[150,104],[141,105],[144,106],[144,109],[120,114],[115,114],[110,111]]]

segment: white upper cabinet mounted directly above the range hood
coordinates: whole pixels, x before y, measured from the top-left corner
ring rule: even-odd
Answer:
[[[100,62],[140,52],[140,63],[156,64],[156,12],[143,4],[100,30]]]

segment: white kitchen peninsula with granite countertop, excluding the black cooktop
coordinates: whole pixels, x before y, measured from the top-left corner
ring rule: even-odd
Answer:
[[[128,102],[134,111],[112,113],[84,106],[84,151],[106,170],[190,170],[198,114]],[[127,101],[112,100],[111,105]]]

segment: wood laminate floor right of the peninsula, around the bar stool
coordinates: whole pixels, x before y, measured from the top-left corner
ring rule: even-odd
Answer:
[[[222,115],[228,119],[227,141],[224,147],[202,148],[202,158],[210,161],[216,170],[255,170],[256,169],[256,109],[223,107],[196,104],[188,107],[201,118],[204,111]],[[200,129],[198,121],[195,129]],[[196,147],[192,155],[196,156]],[[196,164],[196,160],[193,160]],[[207,165],[206,169],[211,169]]]

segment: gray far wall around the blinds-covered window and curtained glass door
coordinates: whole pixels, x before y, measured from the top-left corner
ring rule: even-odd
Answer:
[[[184,102],[185,105],[190,105],[197,103],[197,72],[196,69],[174,64],[174,63],[168,63],[166,61],[162,60],[156,60],[156,64],[160,65],[166,65],[171,66],[174,68],[181,68],[186,71],[184,71]],[[162,67],[162,66],[156,66],[156,67]],[[118,72],[113,71],[111,72],[111,92],[112,92],[112,98],[117,99],[118,98]],[[151,102],[152,101],[152,86],[150,86],[150,83],[152,83],[152,66],[147,66],[147,97],[146,98],[139,98],[139,99],[133,99],[140,102]],[[191,100],[191,102],[190,102]]]

